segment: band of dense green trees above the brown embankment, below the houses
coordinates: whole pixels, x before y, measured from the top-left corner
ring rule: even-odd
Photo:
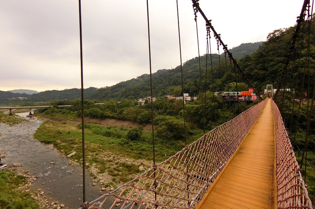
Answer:
[[[213,129],[238,114],[238,107],[235,103],[223,104],[222,100],[215,96],[212,92],[206,93],[207,101],[205,103],[205,128],[207,131]],[[73,105],[67,108],[50,107],[47,109],[38,109],[37,113],[48,116],[75,120],[81,116],[81,104],[79,100],[74,101],[54,101],[52,105]],[[201,98],[188,103],[186,106],[186,122],[194,125],[197,128],[203,128],[203,112]],[[250,105],[240,103],[240,111],[249,108]],[[169,100],[165,97],[160,97],[153,102],[154,109],[154,124],[163,125],[162,121],[168,120],[183,122],[183,106],[181,100]],[[215,115],[216,109],[216,115]],[[92,118],[114,118],[127,121],[137,121],[142,125],[151,122],[151,104],[138,105],[133,99],[108,100],[103,105],[95,105],[93,100],[84,101],[84,116]],[[217,120],[215,122],[215,119]],[[177,125],[180,125],[178,123]],[[174,130],[170,130],[174,131]],[[165,134],[164,134],[165,135]],[[183,139],[181,134],[179,137]]]

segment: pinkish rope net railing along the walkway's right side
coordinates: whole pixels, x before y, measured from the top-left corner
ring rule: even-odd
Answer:
[[[274,101],[272,112],[276,133],[278,208],[312,208],[287,129]]]

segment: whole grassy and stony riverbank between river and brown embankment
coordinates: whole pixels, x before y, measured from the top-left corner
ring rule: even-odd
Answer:
[[[128,139],[128,128],[86,125],[85,153],[87,168],[92,176],[105,178],[105,185],[120,184],[134,178],[144,169],[152,167],[152,132],[143,131],[137,140]],[[79,127],[55,121],[45,121],[37,129],[35,138],[54,146],[82,164],[82,132]],[[156,161],[161,162],[184,146],[178,140],[157,140]]]

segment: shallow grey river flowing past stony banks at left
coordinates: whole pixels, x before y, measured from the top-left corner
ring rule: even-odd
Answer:
[[[69,164],[66,156],[58,154],[52,145],[35,140],[33,134],[43,121],[26,117],[28,114],[18,114],[29,120],[26,123],[14,126],[0,123],[0,150],[4,156],[1,162],[20,163],[23,170],[36,176],[32,189],[43,189],[49,203],[59,201],[65,208],[79,208],[83,202],[82,167]],[[86,201],[89,202],[101,195],[100,185],[91,180],[89,172],[85,173]]]

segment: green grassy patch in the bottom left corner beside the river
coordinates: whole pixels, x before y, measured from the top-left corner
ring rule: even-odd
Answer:
[[[30,193],[18,188],[26,184],[26,177],[15,175],[13,171],[0,171],[0,208],[5,209],[37,209],[40,208]]]

